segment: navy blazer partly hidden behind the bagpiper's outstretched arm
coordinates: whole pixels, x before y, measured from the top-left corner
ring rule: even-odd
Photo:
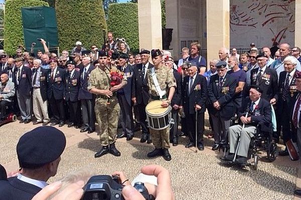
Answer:
[[[121,66],[118,66],[118,69],[120,71],[122,71]],[[127,83],[126,83],[126,85],[124,85],[123,88],[119,89],[117,91],[117,93],[124,92],[127,103],[129,105],[131,105],[132,104],[132,101],[131,101],[131,82],[132,82],[132,77],[133,77],[133,67],[131,65],[127,64],[127,66],[123,70],[123,73],[124,73],[124,76],[126,76]]]

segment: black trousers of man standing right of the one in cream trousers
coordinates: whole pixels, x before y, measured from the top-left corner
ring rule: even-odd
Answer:
[[[60,122],[65,121],[65,107],[64,107],[64,99],[55,99],[52,94],[49,99],[49,106],[52,111],[52,119]]]

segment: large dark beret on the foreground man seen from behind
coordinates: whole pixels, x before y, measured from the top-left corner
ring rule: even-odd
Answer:
[[[17,144],[20,167],[37,168],[60,157],[66,146],[64,133],[52,126],[26,132]]]

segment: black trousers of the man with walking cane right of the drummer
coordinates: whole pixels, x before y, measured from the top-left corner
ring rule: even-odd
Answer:
[[[196,113],[189,114],[185,113],[186,116],[186,122],[187,122],[187,128],[189,132],[189,140],[193,143],[202,143],[203,142],[203,134],[204,134],[204,118],[205,114],[204,112],[198,111],[198,118],[196,121]],[[197,123],[197,139],[196,139],[196,123]]]

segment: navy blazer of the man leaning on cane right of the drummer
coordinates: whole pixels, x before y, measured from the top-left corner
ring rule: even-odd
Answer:
[[[197,74],[192,85],[192,91],[189,93],[190,76],[185,76],[182,85],[183,106],[186,114],[195,113],[195,105],[198,104],[202,108],[199,112],[205,112],[207,99],[207,79],[205,76]]]

